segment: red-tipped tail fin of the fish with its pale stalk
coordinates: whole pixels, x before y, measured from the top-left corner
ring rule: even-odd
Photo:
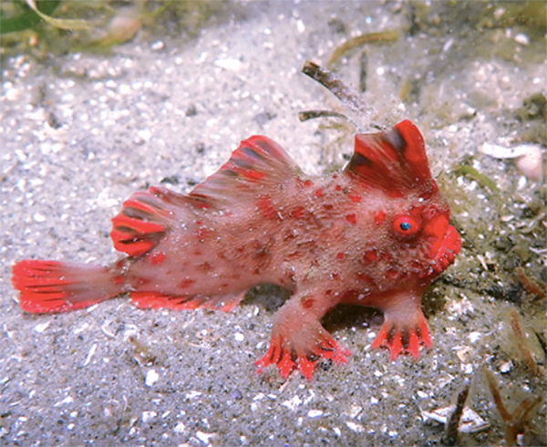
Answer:
[[[21,292],[19,306],[31,314],[92,306],[119,295],[117,283],[110,269],[101,265],[25,260],[12,269],[12,284]]]

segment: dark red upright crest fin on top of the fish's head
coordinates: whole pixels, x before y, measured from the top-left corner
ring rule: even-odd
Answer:
[[[424,139],[409,120],[385,132],[357,134],[355,153],[346,171],[392,197],[413,192],[428,198],[437,191],[429,172]]]

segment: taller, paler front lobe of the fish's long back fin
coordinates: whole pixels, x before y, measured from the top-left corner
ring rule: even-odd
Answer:
[[[194,201],[225,205],[241,201],[242,194],[257,194],[300,173],[284,149],[266,137],[255,135],[243,140],[229,161],[197,185],[189,194]]]

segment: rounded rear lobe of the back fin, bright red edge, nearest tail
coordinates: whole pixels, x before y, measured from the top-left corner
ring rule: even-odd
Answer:
[[[176,220],[176,212],[188,197],[166,188],[152,186],[135,192],[112,219],[110,237],[114,248],[129,256],[144,255],[159,244]]]

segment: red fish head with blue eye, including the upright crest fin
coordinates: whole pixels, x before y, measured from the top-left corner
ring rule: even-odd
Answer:
[[[453,263],[461,241],[414,124],[406,120],[385,132],[357,134],[346,172],[377,197],[375,239],[377,252],[387,254],[385,270],[431,279]]]

